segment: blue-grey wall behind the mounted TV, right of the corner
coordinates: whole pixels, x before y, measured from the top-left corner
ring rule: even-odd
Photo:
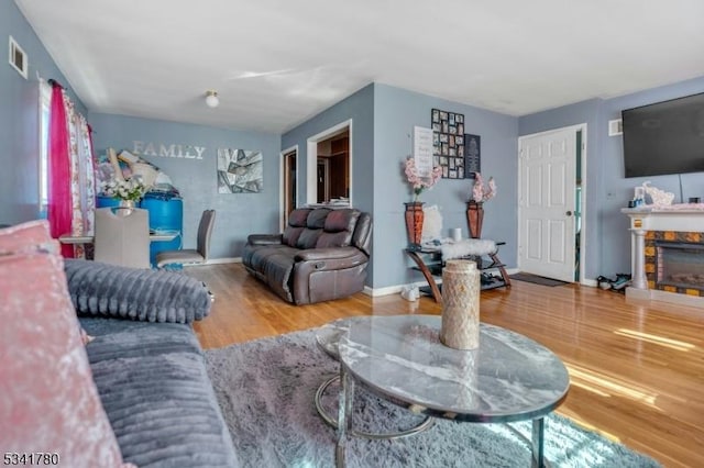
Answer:
[[[586,210],[586,277],[630,272],[630,234],[628,220],[620,213],[634,196],[634,187],[650,180],[654,187],[676,194],[680,202],[680,179],[676,175],[645,178],[624,177],[623,140],[608,136],[608,121],[620,119],[620,111],[704,92],[704,77],[649,89],[618,98],[593,99],[572,105],[540,112],[519,119],[519,134],[527,135],[586,122],[587,192]],[[704,172],[682,175],[684,200],[704,197]]]

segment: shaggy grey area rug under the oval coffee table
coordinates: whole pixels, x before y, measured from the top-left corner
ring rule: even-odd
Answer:
[[[296,332],[206,350],[208,372],[243,467],[333,467],[336,432],[318,415],[314,395],[338,374],[316,345],[315,331]],[[337,415],[337,391],[323,398]],[[358,387],[354,427],[367,432],[409,428],[406,410]],[[645,455],[578,427],[556,414],[546,419],[546,450],[553,467],[658,467]],[[526,437],[530,423],[513,426]],[[502,424],[438,420],[430,430],[395,441],[352,438],[348,467],[530,466],[525,441]]]

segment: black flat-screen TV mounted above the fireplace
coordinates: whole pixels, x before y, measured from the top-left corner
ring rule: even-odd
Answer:
[[[704,171],[704,92],[622,111],[626,177]]]

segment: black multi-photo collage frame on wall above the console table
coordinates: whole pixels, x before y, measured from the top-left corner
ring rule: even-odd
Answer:
[[[464,114],[432,109],[430,124],[433,165],[442,168],[442,177],[446,179],[474,177],[466,168]]]

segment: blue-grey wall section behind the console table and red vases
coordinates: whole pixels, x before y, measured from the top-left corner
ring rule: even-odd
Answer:
[[[518,119],[496,112],[446,101],[387,85],[374,87],[374,288],[419,281],[409,270],[403,253],[407,244],[404,203],[413,201],[404,175],[404,161],[413,153],[414,126],[430,127],[432,109],[464,114],[465,133],[482,136],[482,175],[493,176],[498,187],[496,198],[484,204],[482,236],[505,241],[501,258],[516,265],[516,182],[518,172]],[[421,194],[426,207],[437,204],[442,212],[443,235],[461,227],[469,236],[466,201],[473,187],[471,179],[440,179]]]

